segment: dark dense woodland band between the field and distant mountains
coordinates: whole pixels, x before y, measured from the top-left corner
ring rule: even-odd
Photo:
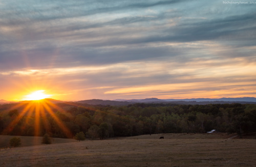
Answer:
[[[256,132],[255,104],[180,105],[136,103],[125,106],[80,103],[0,105],[0,133],[6,135],[108,138],[154,133],[238,134]]]

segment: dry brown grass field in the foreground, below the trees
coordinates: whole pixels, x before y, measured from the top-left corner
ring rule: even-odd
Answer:
[[[0,166],[255,166],[255,148],[256,140],[128,137],[12,148]]]

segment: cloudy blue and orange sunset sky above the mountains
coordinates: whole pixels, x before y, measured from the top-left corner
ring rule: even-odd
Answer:
[[[256,97],[249,3],[0,0],[0,99]]]

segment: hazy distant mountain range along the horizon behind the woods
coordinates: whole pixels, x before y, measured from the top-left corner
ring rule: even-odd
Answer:
[[[55,99],[45,99],[50,103],[66,103],[65,101],[55,100]],[[27,101],[21,101],[27,102]],[[91,100],[81,100],[73,101],[75,103],[90,104],[90,105],[129,105],[134,103],[174,103],[174,104],[224,104],[224,103],[250,103],[256,104],[256,98],[254,97],[241,97],[241,98],[192,98],[192,99],[158,99],[158,98],[146,98],[146,99],[116,99],[116,100],[101,100],[101,99],[91,99]],[[6,103],[18,103],[14,101],[0,100],[0,104]]]

